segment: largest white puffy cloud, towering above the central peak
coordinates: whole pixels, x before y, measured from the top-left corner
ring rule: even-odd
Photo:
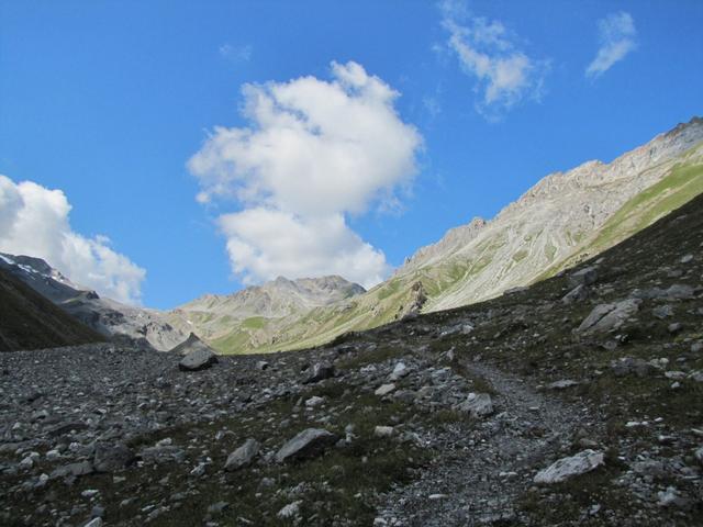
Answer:
[[[394,109],[399,93],[359,64],[332,80],[245,85],[247,127],[215,127],[189,160],[198,201],[236,200],[220,217],[233,270],[247,283],[336,273],[364,285],[389,271],[348,214],[397,203],[422,137]]]

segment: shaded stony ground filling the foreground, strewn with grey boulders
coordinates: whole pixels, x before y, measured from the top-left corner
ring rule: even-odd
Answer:
[[[2,525],[701,525],[703,200],[317,349],[0,355]]]

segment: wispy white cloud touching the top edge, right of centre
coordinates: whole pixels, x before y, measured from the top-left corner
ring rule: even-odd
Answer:
[[[499,119],[525,99],[539,100],[550,61],[529,57],[502,22],[472,15],[461,1],[439,4],[448,47],[461,69],[477,80],[477,110]]]

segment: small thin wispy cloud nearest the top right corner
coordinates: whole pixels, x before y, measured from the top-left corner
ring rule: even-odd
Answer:
[[[599,20],[598,31],[601,47],[585,68],[585,76],[591,78],[603,75],[637,47],[637,30],[629,13],[621,11],[609,14]]]

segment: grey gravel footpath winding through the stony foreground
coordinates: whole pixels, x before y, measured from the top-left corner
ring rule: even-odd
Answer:
[[[486,365],[462,366],[492,385],[495,413],[440,437],[440,457],[413,484],[387,496],[379,525],[521,523],[516,500],[535,471],[568,448],[579,424],[590,422],[584,408],[568,407],[517,378]]]

